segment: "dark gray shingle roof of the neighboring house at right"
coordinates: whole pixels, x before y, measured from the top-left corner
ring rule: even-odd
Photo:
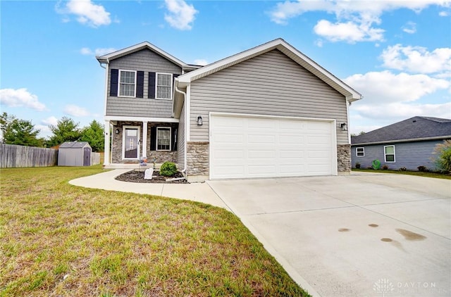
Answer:
[[[351,144],[419,141],[451,138],[451,120],[416,116],[351,137]]]

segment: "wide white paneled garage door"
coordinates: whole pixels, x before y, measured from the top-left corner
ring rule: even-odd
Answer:
[[[210,178],[336,175],[331,121],[211,115]]]

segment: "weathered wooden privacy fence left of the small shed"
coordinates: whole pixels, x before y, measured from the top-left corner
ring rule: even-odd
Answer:
[[[0,144],[0,168],[56,165],[58,165],[58,150],[54,148]]]

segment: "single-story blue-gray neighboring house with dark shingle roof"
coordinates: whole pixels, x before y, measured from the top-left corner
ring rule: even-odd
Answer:
[[[418,170],[419,166],[435,170],[433,150],[445,139],[451,139],[451,120],[409,118],[351,137],[352,167],[360,163],[361,168],[367,168],[377,159],[394,170]]]

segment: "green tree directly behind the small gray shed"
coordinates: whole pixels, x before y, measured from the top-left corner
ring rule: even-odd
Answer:
[[[81,131],[78,128],[79,123],[71,118],[63,117],[55,125],[49,125],[53,135],[47,141],[47,146],[57,146],[65,141],[78,141],[81,137]]]

